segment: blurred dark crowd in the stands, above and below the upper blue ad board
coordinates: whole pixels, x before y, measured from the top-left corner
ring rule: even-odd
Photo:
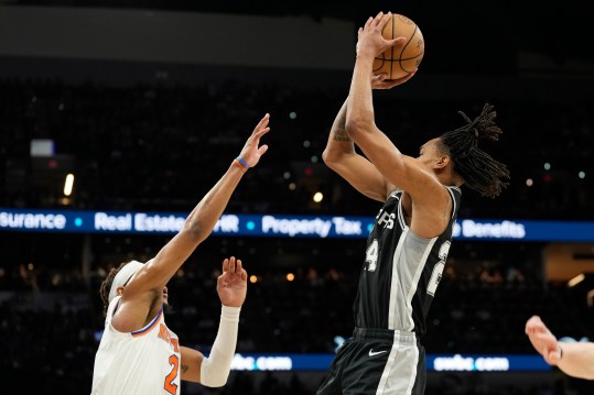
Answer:
[[[345,95],[336,87],[296,89],[237,80],[109,87],[3,79],[0,207],[188,211],[269,112],[272,132],[264,140],[270,151],[245,177],[228,211],[370,216],[377,204],[328,172],[321,158]],[[413,156],[426,140],[461,125],[458,110],[472,118],[483,107],[471,99],[402,101],[386,95],[376,102],[378,125]],[[465,190],[461,217],[594,220],[588,161],[593,103],[492,103],[504,134],[489,151],[509,166],[511,184],[495,200]],[[31,156],[31,143],[39,139],[55,143],[52,158]],[[63,177],[69,172],[75,186],[65,199]],[[315,191],[324,194],[322,202],[312,200]],[[152,257],[165,239],[3,233],[0,377],[20,383],[21,393],[46,387],[61,394],[88,392],[104,322],[100,282],[118,260]],[[83,245],[91,251],[86,268],[80,264]],[[169,285],[168,323],[185,344],[208,351],[219,316],[219,262],[242,254],[255,279],[237,351],[332,353],[335,338],[353,330],[364,245],[364,240],[207,240]],[[523,337],[523,323],[533,314],[559,333],[592,338],[592,309],[583,294],[542,278],[539,248],[533,245],[526,256],[517,244],[506,253],[500,245],[453,249],[428,320],[428,353],[533,353]],[[184,392],[311,394],[322,377],[323,372],[233,373],[225,388]],[[550,391],[539,382],[522,389],[453,374],[430,381],[426,393]]]

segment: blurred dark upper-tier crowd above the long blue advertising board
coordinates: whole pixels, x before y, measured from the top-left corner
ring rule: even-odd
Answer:
[[[463,124],[478,100],[402,100],[376,96],[376,119],[406,154]],[[0,205],[26,208],[190,210],[227,168],[266,112],[266,158],[250,172],[229,211],[368,215],[377,206],[330,172],[322,152],[346,88],[295,88],[229,79],[192,86],[0,80]],[[463,217],[594,219],[593,103],[492,102],[504,130],[486,149],[511,172],[494,200],[465,190]],[[55,161],[32,158],[48,139]],[[73,195],[62,194],[64,174]],[[316,191],[321,202],[312,200]]]

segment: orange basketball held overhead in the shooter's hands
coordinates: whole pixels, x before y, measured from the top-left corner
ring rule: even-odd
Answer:
[[[381,31],[386,40],[407,37],[402,45],[392,46],[374,59],[374,74],[387,74],[388,79],[406,77],[423,59],[425,44],[421,30],[411,19],[392,13],[392,20]]]

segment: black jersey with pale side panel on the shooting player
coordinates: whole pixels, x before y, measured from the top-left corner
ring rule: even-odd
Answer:
[[[442,234],[425,239],[404,222],[402,191],[390,194],[367,239],[354,304],[358,328],[425,332],[425,319],[450,251],[462,191],[447,187],[453,210]]]

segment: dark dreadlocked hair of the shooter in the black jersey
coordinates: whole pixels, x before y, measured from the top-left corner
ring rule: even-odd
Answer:
[[[494,198],[509,185],[500,179],[509,178],[509,171],[506,165],[478,149],[478,140],[499,140],[501,129],[494,122],[497,113],[488,103],[483,107],[483,111],[474,121],[471,121],[464,112],[458,113],[467,124],[443,133],[440,136],[440,149],[452,157],[454,172],[464,178],[464,184],[482,196]]]

